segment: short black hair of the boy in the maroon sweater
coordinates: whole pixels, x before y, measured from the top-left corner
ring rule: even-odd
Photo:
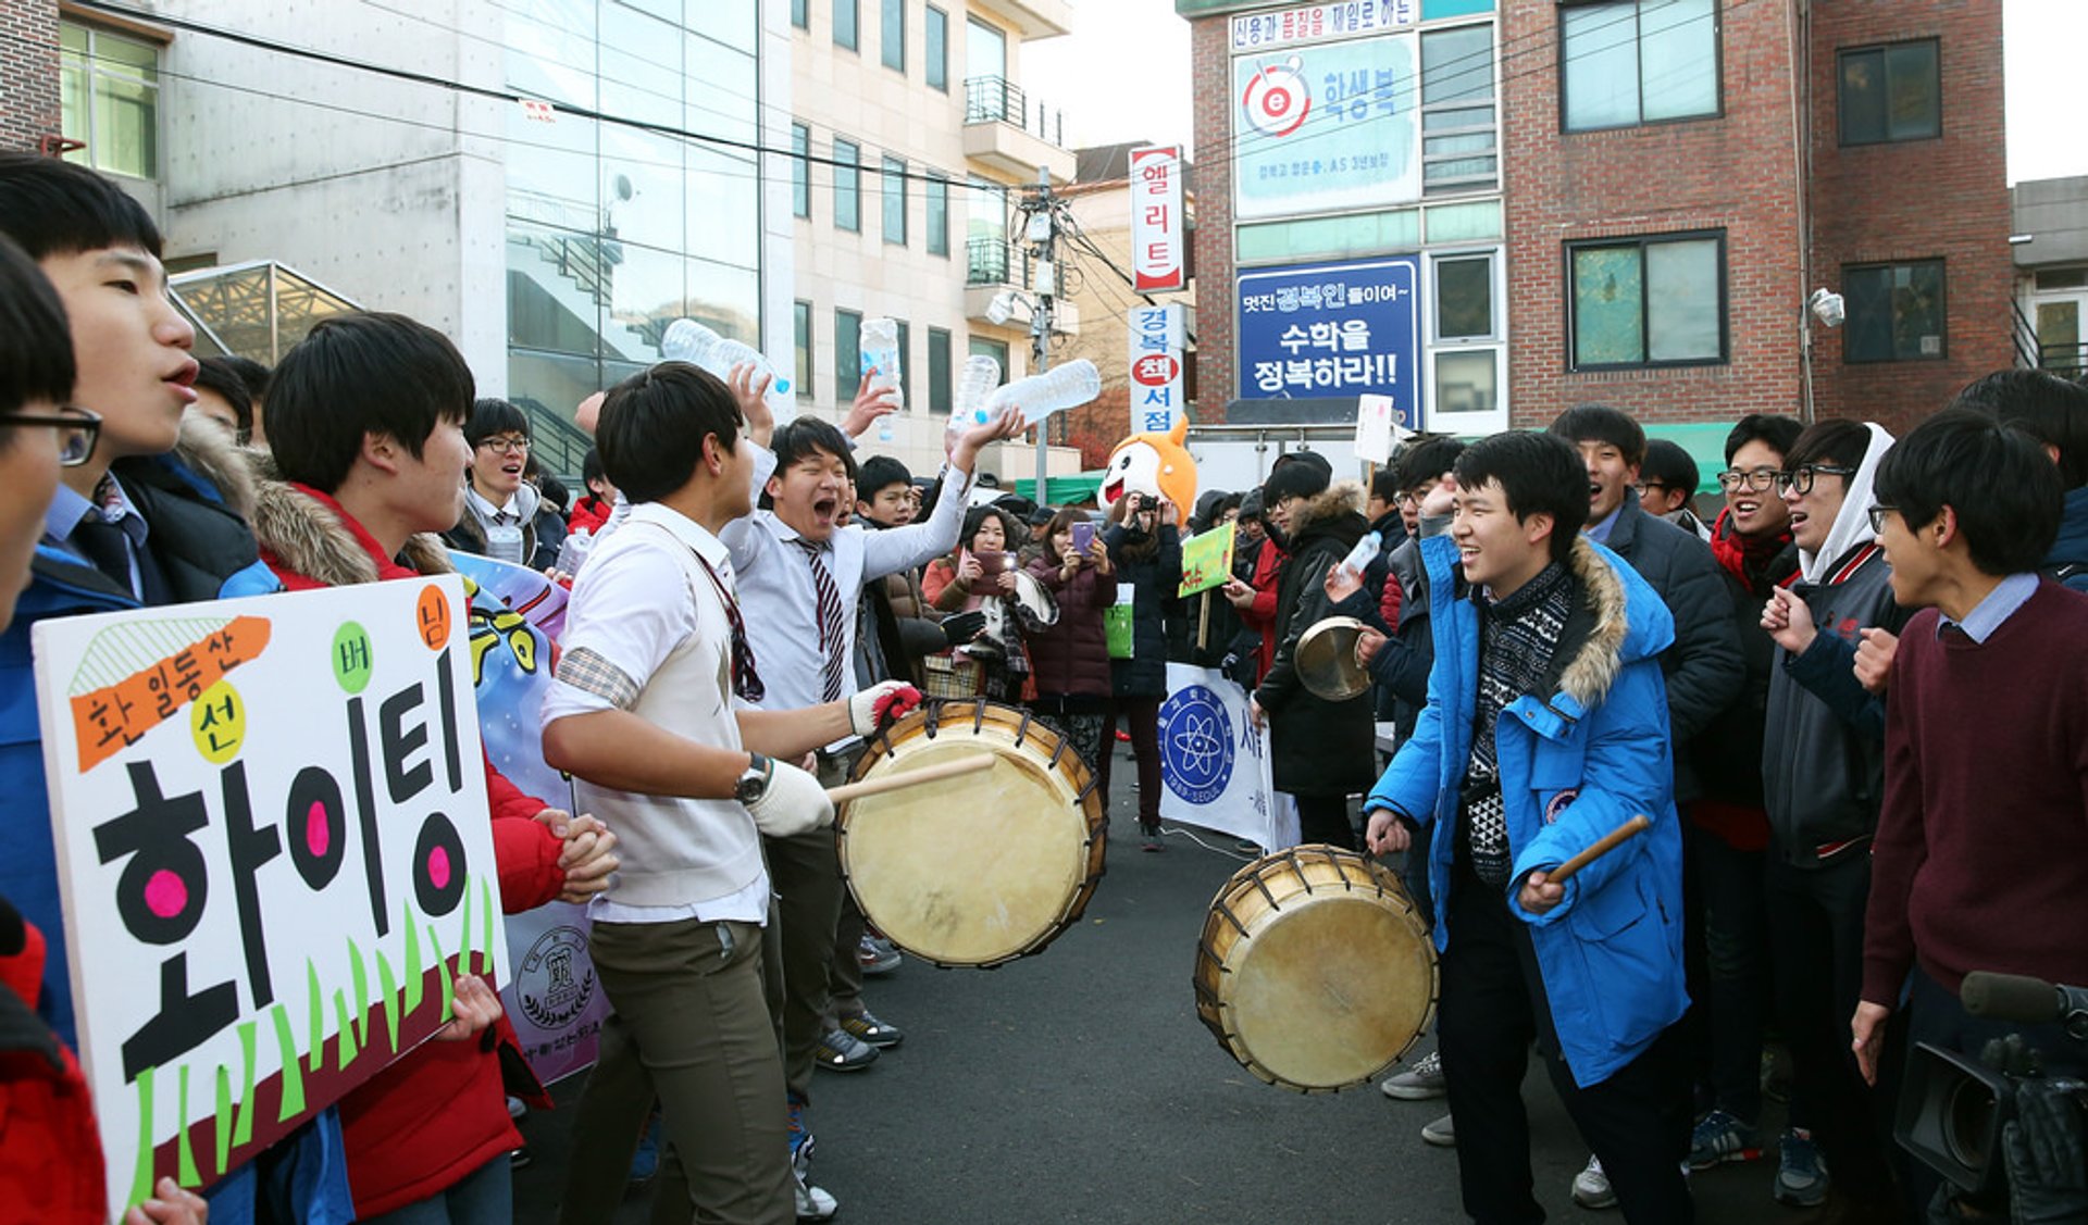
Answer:
[[[2036,570],[2059,538],[2065,488],[2027,430],[1992,415],[1946,409],[1915,426],[1877,461],[1877,503],[1908,528],[1948,505],[1982,574]]]

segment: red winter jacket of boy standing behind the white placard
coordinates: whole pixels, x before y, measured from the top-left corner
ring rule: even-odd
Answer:
[[[361,545],[376,563],[380,580],[420,578],[418,570],[386,557],[376,538],[340,509],[340,503],[315,488],[290,488],[309,499],[301,511],[336,532],[349,532]],[[263,499],[269,497],[265,490]],[[261,541],[261,561],[290,591],[326,586],[296,572],[267,538]],[[557,897],[566,887],[566,874],[557,868],[562,843],[532,820],[545,803],[503,778],[491,760],[487,799],[493,818],[493,858],[501,874],[501,910],[514,914]],[[489,1160],[522,1148],[522,1133],[507,1116],[501,1046],[512,1046],[516,1056],[522,1054],[505,1016],[478,1041],[422,1043],[340,1100],[340,1129],[349,1150],[349,1187],[355,1192],[357,1217],[378,1217],[426,1200]]]

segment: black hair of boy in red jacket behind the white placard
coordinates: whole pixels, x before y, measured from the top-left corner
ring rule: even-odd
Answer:
[[[472,411],[472,367],[434,328],[365,311],[319,319],[282,355],[267,397],[267,445],[286,480],[334,493],[365,434],[420,459],[436,426]]]

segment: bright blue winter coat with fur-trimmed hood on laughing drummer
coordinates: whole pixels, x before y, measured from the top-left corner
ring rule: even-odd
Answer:
[[[1449,950],[1451,854],[1457,791],[1472,755],[1480,614],[1457,597],[1457,551],[1422,538],[1434,622],[1428,705],[1414,737],[1370,791],[1389,808],[1441,822],[1428,847],[1434,939]],[[1576,538],[1579,607],[1560,634],[1547,684],[1501,712],[1495,730],[1508,847],[1510,910],[1531,924],[1537,968],[1560,1052],[1581,1087],[1637,1058],[1689,1004],[1683,987],[1681,826],[1660,651],[1675,620],[1660,595],[1616,553]],[[1618,824],[1645,814],[1654,826],[1566,883],[1545,914],[1516,902],[1522,879],[1564,864]]]

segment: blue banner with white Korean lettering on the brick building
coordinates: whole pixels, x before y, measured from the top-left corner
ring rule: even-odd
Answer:
[[[1240,399],[1393,399],[1422,419],[1420,259],[1240,273]]]

